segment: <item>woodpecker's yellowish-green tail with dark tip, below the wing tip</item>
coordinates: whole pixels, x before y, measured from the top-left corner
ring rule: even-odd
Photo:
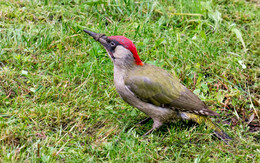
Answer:
[[[214,133],[218,138],[223,140],[224,142],[228,143],[228,141],[232,140],[228,134],[226,134],[224,131],[222,131],[209,117],[203,116],[203,115],[197,115],[193,113],[181,113],[181,117],[184,119],[191,119],[198,124],[205,123],[207,127],[214,130]]]

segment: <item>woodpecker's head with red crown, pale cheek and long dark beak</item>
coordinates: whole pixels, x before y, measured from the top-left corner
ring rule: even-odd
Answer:
[[[88,30],[84,30],[84,32],[88,33],[105,47],[107,53],[115,65],[144,65],[138,56],[135,45],[128,38],[124,36],[107,37],[104,34],[98,34]]]

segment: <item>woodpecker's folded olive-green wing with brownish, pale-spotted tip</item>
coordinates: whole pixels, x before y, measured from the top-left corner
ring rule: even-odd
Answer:
[[[139,99],[167,108],[201,115],[218,115],[207,108],[193,92],[178,79],[153,65],[140,66],[125,77],[126,87]]]

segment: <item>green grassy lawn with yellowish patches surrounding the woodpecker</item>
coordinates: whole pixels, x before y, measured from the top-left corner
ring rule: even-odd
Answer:
[[[255,2],[2,0],[0,162],[259,162]],[[175,71],[231,145],[184,121],[142,137],[152,122],[135,125],[146,116],[120,99],[84,28],[124,35],[144,62]]]

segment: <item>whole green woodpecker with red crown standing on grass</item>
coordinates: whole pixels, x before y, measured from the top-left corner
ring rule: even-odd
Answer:
[[[150,134],[164,123],[175,119],[205,123],[226,141],[231,139],[208,116],[219,114],[209,110],[192,91],[167,71],[143,63],[135,45],[124,36],[109,36],[84,30],[106,49],[114,63],[114,83],[121,98],[153,120]]]

